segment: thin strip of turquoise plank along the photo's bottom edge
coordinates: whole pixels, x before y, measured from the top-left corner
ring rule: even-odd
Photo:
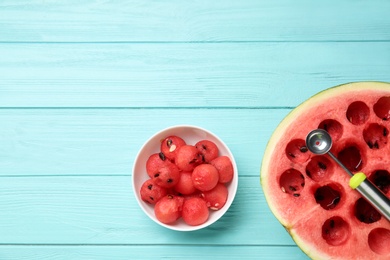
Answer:
[[[296,246],[0,246],[7,260],[309,259]],[[206,258],[207,259],[207,258]]]

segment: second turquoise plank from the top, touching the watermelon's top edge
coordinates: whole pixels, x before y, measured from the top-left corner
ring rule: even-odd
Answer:
[[[0,107],[294,107],[390,82],[387,42],[1,44],[0,57]]]

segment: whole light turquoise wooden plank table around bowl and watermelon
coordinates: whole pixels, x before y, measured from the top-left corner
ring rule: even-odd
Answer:
[[[0,1],[0,259],[305,259],[259,170],[283,117],[390,81],[390,1]],[[224,140],[237,197],[180,233],[137,205],[134,157],[191,124]]]

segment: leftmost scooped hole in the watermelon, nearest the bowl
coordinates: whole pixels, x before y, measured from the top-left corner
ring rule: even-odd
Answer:
[[[305,187],[305,177],[296,169],[288,169],[282,173],[279,179],[280,189],[294,197],[299,197]]]

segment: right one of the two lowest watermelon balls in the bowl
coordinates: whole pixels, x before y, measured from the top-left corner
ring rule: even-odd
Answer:
[[[209,218],[209,209],[206,201],[202,198],[190,198],[184,201],[182,217],[190,226],[198,226]]]

